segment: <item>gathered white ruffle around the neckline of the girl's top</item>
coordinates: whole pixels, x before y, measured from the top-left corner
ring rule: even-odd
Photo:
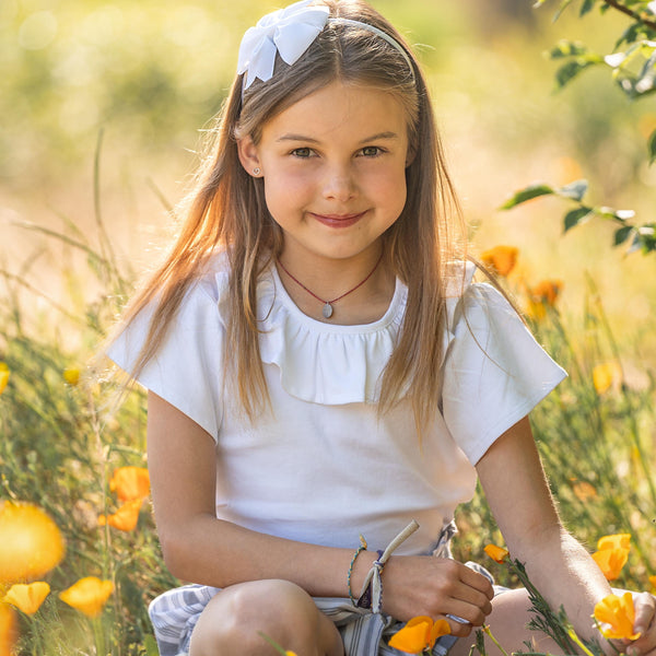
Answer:
[[[458,293],[447,298],[449,319],[454,303],[472,270],[462,276]],[[372,324],[325,324],[303,314],[288,294],[274,265],[258,285],[260,356],[280,372],[283,389],[303,401],[328,406],[374,403],[379,398],[383,370],[396,344],[403,321],[407,286],[397,279],[387,312]],[[443,353],[453,339],[450,320]]]

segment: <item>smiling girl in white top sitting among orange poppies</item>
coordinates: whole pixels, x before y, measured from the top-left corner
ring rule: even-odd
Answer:
[[[149,389],[159,535],[194,582],[151,606],[162,656],[520,648],[527,595],[450,558],[476,475],[514,558],[586,637],[610,593],[561,526],[526,414],[563,377],[472,283],[422,72],[361,0],[248,30],[168,259],[110,356]],[[655,654],[654,602],[636,653]]]

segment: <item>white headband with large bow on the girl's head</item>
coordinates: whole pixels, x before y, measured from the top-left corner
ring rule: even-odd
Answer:
[[[237,61],[237,73],[247,73],[244,78],[244,90],[256,79],[267,82],[273,77],[276,52],[280,52],[283,61],[292,66],[309,48],[327,23],[356,25],[385,39],[403,56],[414,77],[408,54],[389,34],[368,23],[351,19],[331,19],[327,7],[308,7],[311,2],[313,0],[301,0],[286,9],[279,9],[262,16],[255,27],[246,31]]]

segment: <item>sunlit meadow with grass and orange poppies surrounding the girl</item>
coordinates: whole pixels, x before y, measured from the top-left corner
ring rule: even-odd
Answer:
[[[46,4],[0,3],[0,656],[155,656],[148,604],[179,582],[150,507],[145,397],[96,355],[175,224],[171,178],[220,107],[234,34],[271,3]],[[563,522],[613,586],[656,591],[654,3],[565,0],[555,24],[544,0],[373,4],[417,35],[479,278],[569,372],[531,415]],[[597,21],[586,45],[581,21]],[[456,522],[456,558],[530,585],[480,491]],[[599,654],[534,605],[565,653]],[[630,640],[631,612],[613,596],[590,622]],[[419,654],[447,626],[403,631],[393,646]]]

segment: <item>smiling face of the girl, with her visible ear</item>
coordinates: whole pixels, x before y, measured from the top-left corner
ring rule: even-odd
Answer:
[[[245,138],[238,148],[246,171],[263,177],[285,259],[298,266],[371,260],[406,203],[407,120],[391,93],[332,82],[269,120],[257,145]]]

